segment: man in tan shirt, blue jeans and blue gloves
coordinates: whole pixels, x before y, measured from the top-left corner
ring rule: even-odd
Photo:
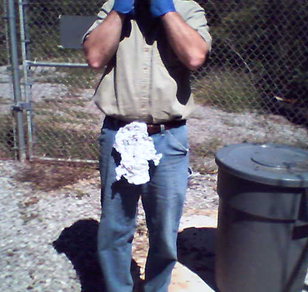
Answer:
[[[150,245],[143,291],[166,292],[187,187],[185,121],[194,109],[189,74],[204,63],[211,37],[203,9],[188,0],[109,0],[98,17],[83,46],[88,64],[104,68],[95,102],[106,115],[100,136],[98,233],[105,291],[132,291],[131,244],[141,196]],[[121,163],[116,135],[136,121],[146,124],[161,155],[158,164],[147,162],[150,179],[141,184],[118,180],[116,174]]]

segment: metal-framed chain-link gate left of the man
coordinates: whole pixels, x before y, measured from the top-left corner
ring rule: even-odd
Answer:
[[[60,44],[63,14],[78,15],[82,10],[76,5],[63,7],[61,2],[48,18],[39,2],[18,0],[14,5],[8,0],[7,4],[14,85],[11,110],[17,126],[13,141],[19,159],[96,162],[102,114],[93,105],[92,94],[99,74],[87,68],[81,46],[76,50]],[[94,6],[97,12],[99,5]]]

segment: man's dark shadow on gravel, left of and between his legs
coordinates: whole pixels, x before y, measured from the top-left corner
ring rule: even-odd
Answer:
[[[81,292],[104,292],[96,252],[98,225],[94,219],[79,220],[65,228],[53,242],[56,251],[64,253],[72,262],[80,280]],[[134,260],[131,273],[136,283],[134,291],[139,291],[140,268]]]

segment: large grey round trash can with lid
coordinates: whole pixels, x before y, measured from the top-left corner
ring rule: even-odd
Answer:
[[[237,144],[216,153],[220,292],[301,292],[308,264],[308,151]]]

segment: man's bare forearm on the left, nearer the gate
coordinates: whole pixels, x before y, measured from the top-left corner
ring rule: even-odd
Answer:
[[[87,63],[93,69],[103,68],[115,54],[122,32],[125,16],[111,11],[83,43]]]

